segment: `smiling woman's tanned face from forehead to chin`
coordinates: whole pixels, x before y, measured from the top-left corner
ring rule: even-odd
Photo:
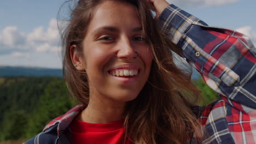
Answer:
[[[90,99],[124,102],[137,97],[152,63],[144,39],[135,7],[114,1],[98,5],[83,40],[82,61],[88,74]]]

